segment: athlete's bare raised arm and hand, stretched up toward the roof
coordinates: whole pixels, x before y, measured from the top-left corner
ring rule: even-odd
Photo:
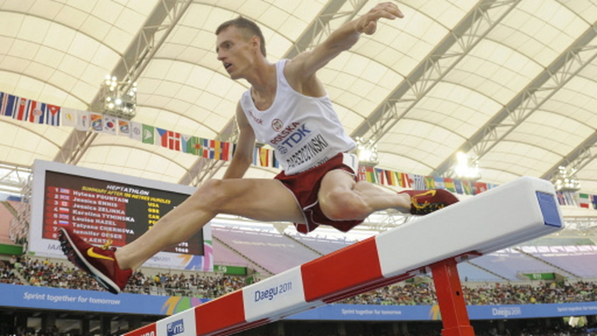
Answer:
[[[372,8],[364,16],[352,20],[334,30],[328,38],[313,50],[304,51],[293,58],[285,73],[297,72],[303,78],[312,76],[342,51],[349,50],[358,41],[361,33],[373,34],[377,30],[377,20],[394,20],[404,17],[398,6],[392,2],[384,2]]]

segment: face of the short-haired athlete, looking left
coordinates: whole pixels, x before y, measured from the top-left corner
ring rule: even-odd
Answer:
[[[243,73],[252,63],[253,49],[251,39],[242,35],[235,26],[229,26],[217,35],[218,60],[232,79],[243,77]]]

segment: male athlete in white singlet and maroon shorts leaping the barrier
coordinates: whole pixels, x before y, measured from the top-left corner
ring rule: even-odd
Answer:
[[[291,221],[301,233],[321,224],[346,232],[380,209],[426,214],[457,202],[445,190],[389,193],[356,181],[358,161],[350,153],[355,142],[344,132],[316,76],[361,33],[373,34],[377,20],[397,17],[403,15],[395,4],[378,4],[313,50],[273,64],[266,59],[263,35],[253,21],[239,17],[221,24],[216,30],[218,60],[230,78],[251,84],[236,107],[239,138],[223,179],[205,181],[151,230],[119,249],[90,245],[72,229],[60,229],[69,260],[119,293],[132,270],[189,238],[217,214]],[[272,180],[242,178],[253,161],[256,139],[276,149],[284,168]]]

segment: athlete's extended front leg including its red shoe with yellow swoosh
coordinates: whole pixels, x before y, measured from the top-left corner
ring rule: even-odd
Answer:
[[[277,180],[210,180],[152,229],[116,251],[92,246],[72,230],[61,230],[60,241],[70,261],[91,273],[104,288],[118,293],[126,285],[131,269],[167,246],[189,238],[220,213],[263,221],[304,221],[294,196]]]

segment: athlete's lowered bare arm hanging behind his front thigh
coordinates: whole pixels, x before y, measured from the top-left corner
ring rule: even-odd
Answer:
[[[255,148],[255,132],[242,111],[241,104],[236,105],[236,123],[238,124],[238,141],[230,165],[224,173],[226,178],[242,178],[251,163],[253,163],[253,150]]]

